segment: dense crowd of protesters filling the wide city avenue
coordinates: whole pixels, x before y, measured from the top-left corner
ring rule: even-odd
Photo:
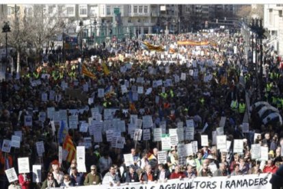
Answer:
[[[178,45],[180,40],[209,43]],[[29,157],[30,167],[40,164],[42,180],[33,183],[32,173],[21,173],[9,188],[119,186],[277,171],[283,163],[281,125],[263,124],[253,119],[253,115],[251,118],[245,115],[250,110],[246,96],[251,105],[267,101],[282,114],[283,77],[275,54],[270,51],[265,54],[266,73],[262,78],[265,89],[260,94],[255,91],[256,66],[245,51],[249,42],[243,40],[239,31],[148,36],[144,41],[162,45],[164,49],[150,51],[143,49],[137,40],[126,40],[111,47],[101,45],[91,56],[80,56],[77,60],[55,64],[46,60],[41,65],[22,68],[20,75],[8,73],[0,86],[0,138],[2,142],[11,140],[14,131],[21,131],[21,147],[0,151],[0,188],[8,188],[5,170],[14,167],[17,172],[18,157]],[[83,74],[83,67],[92,74]],[[74,95],[70,91],[79,93]],[[54,108],[51,115],[49,108]],[[70,128],[62,135],[62,116],[59,121],[54,116],[59,110],[67,110],[67,118],[78,117],[77,129]],[[105,114],[109,110],[111,114]],[[31,123],[27,116],[31,116]],[[139,124],[144,116],[151,118],[149,128]],[[231,141],[226,151],[217,149],[212,135],[221,117],[226,117],[221,135]],[[245,133],[243,119],[249,123],[249,131]],[[162,134],[179,127],[184,132],[187,120],[193,120],[193,140],[198,141],[198,151],[183,161],[177,145],[172,145],[166,162],[159,163],[162,144],[154,141],[154,128],[162,128]],[[90,129],[94,121],[102,123],[100,131]],[[88,132],[80,130],[81,123],[89,125]],[[68,128],[68,121],[64,125]],[[150,129],[151,139],[133,140],[132,127]],[[123,148],[116,148],[115,142],[107,138],[110,129],[124,139]],[[95,132],[101,132],[102,142],[94,142]],[[255,133],[260,134],[256,140]],[[78,171],[76,157],[59,164],[58,147],[66,135],[72,138],[75,147],[85,144],[86,173]],[[208,136],[207,146],[201,145],[201,135]],[[86,145],[87,137],[91,142]],[[234,139],[243,139],[241,153],[233,151]],[[36,148],[39,141],[44,142],[41,155]],[[183,138],[178,142],[191,141]],[[268,147],[268,160],[252,159],[252,144]],[[126,166],[123,155],[128,153],[133,155],[134,163]]]

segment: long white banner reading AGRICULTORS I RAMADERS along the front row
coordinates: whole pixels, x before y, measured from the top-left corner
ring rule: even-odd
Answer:
[[[266,189],[272,188],[269,180],[271,179],[271,174],[264,173],[260,175],[243,175],[240,176],[231,176],[228,177],[211,177],[207,179],[207,177],[196,177],[194,179],[170,179],[164,182],[148,182],[148,184],[140,184],[140,183],[129,183],[129,185],[121,184],[121,186],[109,186],[100,185],[100,186],[78,186],[74,187],[76,189],[123,189],[123,188],[131,188],[131,189],[182,189],[182,188],[193,188],[193,189]],[[72,188],[72,187],[70,187]]]

